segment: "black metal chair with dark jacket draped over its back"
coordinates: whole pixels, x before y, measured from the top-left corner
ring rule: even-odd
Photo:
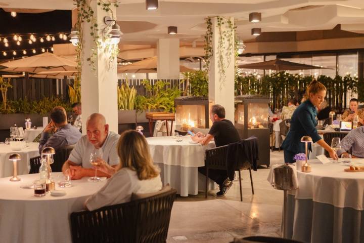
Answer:
[[[208,170],[228,170],[228,164],[226,161],[228,155],[228,146],[224,145],[216,148],[206,149],[205,167],[206,167],[206,187],[205,187],[205,198],[207,198],[207,185],[208,185]],[[254,194],[253,179],[251,175],[251,165],[249,161],[244,161],[244,164],[234,168],[235,171],[239,172],[239,186],[240,186],[240,201],[243,201],[243,193],[241,186],[241,173],[240,170],[249,170],[250,183],[252,187],[252,194]]]

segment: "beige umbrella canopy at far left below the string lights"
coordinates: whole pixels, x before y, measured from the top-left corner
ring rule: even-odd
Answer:
[[[45,52],[39,55],[5,62],[1,65],[6,67],[2,71],[38,73],[41,71],[75,70],[77,63],[53,53]]]

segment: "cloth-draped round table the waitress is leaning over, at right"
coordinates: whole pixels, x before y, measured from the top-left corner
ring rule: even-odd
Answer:
[[[297,170],[299,189],[289,191],[285,237],[302,242],[363,242],[364,172],[347,164],[308,160],[312,172]],[[352,164],[364,166],[363,159]]]

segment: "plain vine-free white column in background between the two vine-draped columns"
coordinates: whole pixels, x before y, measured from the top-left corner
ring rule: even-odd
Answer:
[[[179,39],[165,38],[157,42],[157,78],[179,78]]]

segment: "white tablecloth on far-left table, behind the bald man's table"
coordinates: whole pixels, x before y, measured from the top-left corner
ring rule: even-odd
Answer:
[[[13,153],[19,153],[21,160],[17,162],[18,175],[29,173],[29,159],[39,155],[39,143],[29,143],[29,147],[21,151],[13,151],[10,145],[0,144],[0,178],[13,175],[13,161],[9,160],[9,156]]]

